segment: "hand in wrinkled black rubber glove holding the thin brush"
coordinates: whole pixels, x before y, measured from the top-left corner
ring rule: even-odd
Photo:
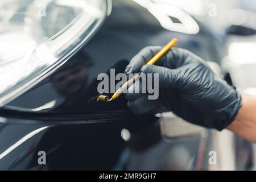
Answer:
[[[156,65],[144,65],[162,47],[142,49],[127,65],[125,73],[158,73],[159,98],[148,100],[145,94],[127,93],[127,106],[142,114],[163,104],[179,117],[196,125],[225,129],[241,107],[241,96],[208,64],[193,53],[172,48]],[[137,84],[138,85],[138,84]]]

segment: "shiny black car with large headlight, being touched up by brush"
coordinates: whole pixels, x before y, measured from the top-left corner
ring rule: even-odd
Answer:
[[[212,166],[208,159],[220,146],[234,153],[226,134],[170,112],[134,115],[123,97],[87,102],[99,73],[121,73],[143,47],[174,37],[221,75],[226,39],[204,23],[146,0],[12,0],[0,8],[0,169],[225,169],[223,153]],[[251,158],[239,165],[250,169]]]

